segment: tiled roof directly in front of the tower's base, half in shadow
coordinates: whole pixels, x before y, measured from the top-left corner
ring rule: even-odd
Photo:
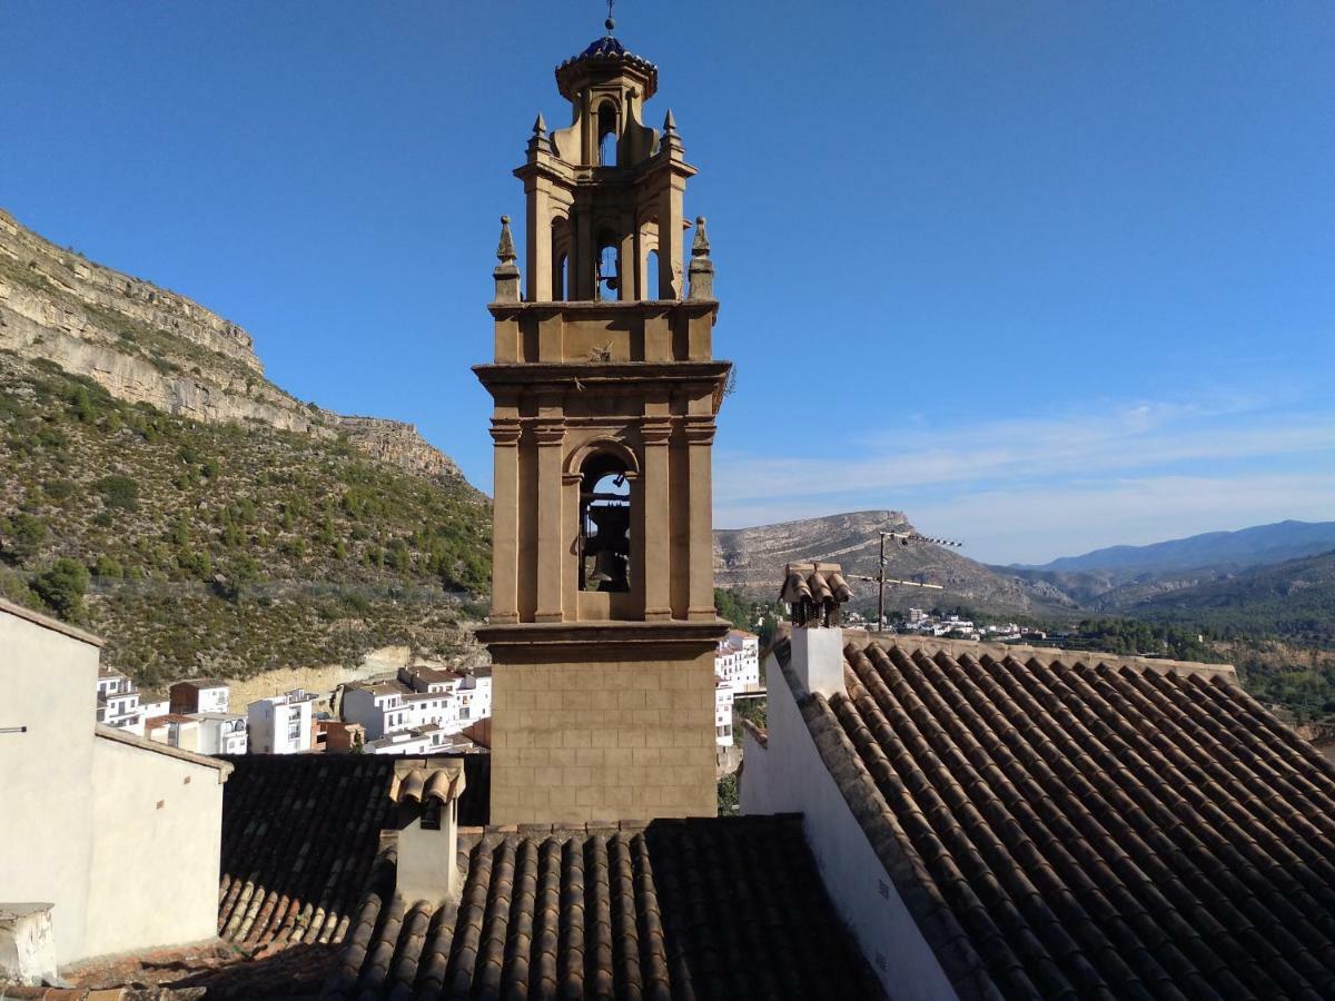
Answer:
[[[387,853],[324,997],[877,998],[796,817],[461,831],[462,900]]]

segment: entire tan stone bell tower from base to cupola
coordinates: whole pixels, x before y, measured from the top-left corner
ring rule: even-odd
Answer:
[[[686,179],[653,64],[609,33],[557,68],[538,117],[525,275],[502,219],[490,625],[491,821],[712,815],[714,416],[730,366],[705,220],[684,268]],[[684,274],[685,272],[685,274]],[[684,282],[684,278],[689,282]]]

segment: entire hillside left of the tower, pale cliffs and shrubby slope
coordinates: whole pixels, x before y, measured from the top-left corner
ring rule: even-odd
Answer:
[[[235,324],[0,215],[0,595],[143,683],[240,678],[453,654],[489,550],[411,426],[300,403]]]

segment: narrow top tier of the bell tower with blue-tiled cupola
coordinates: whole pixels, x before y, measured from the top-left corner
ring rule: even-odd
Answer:
[[[557,67],[557,87],[570,125],[547,132],[539,115],[515,170],[527,202],[525,299],[680,299],[682,195],[696,170],[672,111],[661,132],[643,124],[658,69],[609,28]]]

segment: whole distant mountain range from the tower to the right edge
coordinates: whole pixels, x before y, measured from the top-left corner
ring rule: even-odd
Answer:
[[[844,566],[854,606],[874,603],[878,531],[912,531],[902,511],[856,511],[714,533],[714,578],[773,597],[784,565]],[[964,605],[1048,619],[1125,615],[1247,633],[1335,638],[1335,522],[1279,522],[1151,546],[1113,546],[1043,566],[987,566],[930,543],[886,549],[888,577],[943,585],[889,589],[886,606]]]

